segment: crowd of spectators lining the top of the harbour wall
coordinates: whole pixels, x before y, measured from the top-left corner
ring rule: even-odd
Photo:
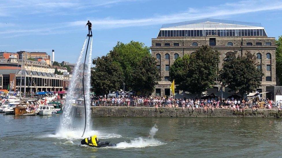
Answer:
[[[261,99],[264,101],[264,108],[272,108],[274,102],[266,98]],[[281,102],[282,105],[282,102]],[[212,111],[214,108],[230,108],[231,111],[243,112],[245,109],[252,108],[256,111],[259,108],[259,100],[253,99],[237,99],[229,98],[227,100],[220,100],[220,98],[207,98],[207,99],[197,99],[197,98],[173,98],[173,97],[92,97],[92,106],[147,106],[147,107],[182,107],[192,108],[195,111],[207,112],[209,109]]]

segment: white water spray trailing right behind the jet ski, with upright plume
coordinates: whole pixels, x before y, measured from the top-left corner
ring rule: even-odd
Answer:
[[[158,131],[157,125],[154,125],[151,130],[148,138],[135,138],[130,140],[130,142],[120,142],[116,144],[116,148],[144,148],[147,146],[158,146],[165,143],[160,142],[159,140],[154,139],[156,132]]]

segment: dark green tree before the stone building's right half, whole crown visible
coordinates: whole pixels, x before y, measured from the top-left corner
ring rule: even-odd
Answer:
[[[234,55],[235,54],[235,55]],[[232,91],[244,93],[255,91],[261,85],[262,70],[257,68],[256,56],[246,52],[244,56],[227,54],[220,70],[219,81]]]

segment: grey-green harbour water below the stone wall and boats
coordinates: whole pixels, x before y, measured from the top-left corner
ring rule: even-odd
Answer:
[[[60,115],[0,114],[0,122],[0,157],[282,157],[281,119],[93,118],[86,136],[117,143],[107,148],[81,146],[77,131],[56,134]]]

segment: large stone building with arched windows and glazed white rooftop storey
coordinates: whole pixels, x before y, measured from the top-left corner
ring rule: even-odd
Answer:
[[[169,68],[184,54],[195,52],[202,45],[209,45],[220,52],[219,68],[226,54],[238,51],[243,55],[249,51],[257,56],[257,67],[262,69],[261,87],[258,92],[266,92],[266,87],[276,85],[275,38],[268,37],[259,23],[236,22],[218,19],[201,19],[174,24],[164,24],[157,38],[152,39],[152,56],[156,58],[161,81],[153,95],[170,95]],[[220,85],[213,85],[210,92],[218,91]],[[227,92],[228,88],[225,88]]]

